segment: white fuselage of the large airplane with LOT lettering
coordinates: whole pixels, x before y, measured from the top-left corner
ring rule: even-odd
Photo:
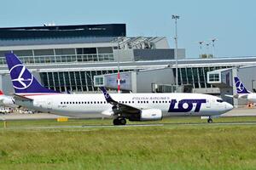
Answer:
[[[218,102],[218,97],[207,94],[110,94],[112,99],[137,109],[159,109],[164,116],[214,116],[230,111],[233,106]],[[18,105],[62,116],[112,116],[113,105],[103,94],[26,95],[29,101]],[[198,102],[200,99],[205,102]],[[188,101],[192,104],[189,104]]]

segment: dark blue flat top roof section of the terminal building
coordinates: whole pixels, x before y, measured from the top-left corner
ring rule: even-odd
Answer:
[[[27,40],[70,37],[123,37],[125,24],[30,26],[0,28],[0,40]]]

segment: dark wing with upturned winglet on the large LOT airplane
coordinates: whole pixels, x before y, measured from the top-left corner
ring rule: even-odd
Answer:
[[[115,101],[108,94],[106,88],[100,87],[100,89],[102,90],[102,93],[104,94],[105,99],[107,100],[107,102],[109,104],[113,105],[112,110],[113,110],[114,115],[118,115],[119,113],[138,114],[142,111],[141,109],[136,108],[136,107],[132,107],[131,105],[125,105],[125,104],[121,104],[121,103]]]

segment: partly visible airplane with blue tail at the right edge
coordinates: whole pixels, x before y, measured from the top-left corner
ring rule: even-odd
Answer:
[[[238,77],[234,77],[236,84],[236,94],[226,95],[236,99],[247,99],[249,102],[256,103],[256,94],[247,90]]]

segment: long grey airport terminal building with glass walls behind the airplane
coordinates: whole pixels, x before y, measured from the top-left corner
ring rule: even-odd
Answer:
[[[118,65],[121,89],[126,92],[176,90],[175,50],[166,37],[127,37],[125,24],[0,28],[0,88],[7,94],[13,93],[4,58],[9,51],[45,87],[61,92],[98,93],[99,86],[116,89]],[[177,58],[179,91],[221,96],[234,93],[232,77],[235,72],[239,75],[240,67],[254,68],[256,63],[256,56],[187,59],[184,48],[178,48]]]

